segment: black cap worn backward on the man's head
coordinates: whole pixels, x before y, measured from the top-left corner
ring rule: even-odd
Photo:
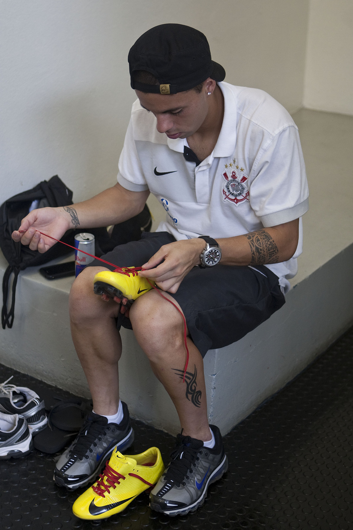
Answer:
[[[224,68],[211,60],[210,46],[201,31],[183,24],[161,24],[143,33],[129,51],[131,87],[142,92],[176,94],[192,89],[211,77],[223,81]],[[133,80],[144,70],[159,85]]]

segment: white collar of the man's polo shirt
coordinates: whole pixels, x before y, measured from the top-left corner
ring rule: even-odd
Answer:
[[[220,87],[224,98],[224,116],[217,143],[213,149],[213,157],[227,157],[234,152],[234,146],[237,140],[237,102],[228,83],[217,83]],[[184,153],[184,145],[187,146],[186,138],[176,138],[175,140],[167,137],[169,149]]]

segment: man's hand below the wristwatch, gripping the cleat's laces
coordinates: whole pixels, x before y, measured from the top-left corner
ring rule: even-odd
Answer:
[[[203,239],[187,239],[163,245],[152,258],[142,265],[139,276],[151,278],[158,287],[176,293],[187,273],[200,263],[205,248]]]

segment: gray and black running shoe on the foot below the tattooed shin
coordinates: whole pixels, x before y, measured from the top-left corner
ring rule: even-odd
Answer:
[[[218,427],[210,425],[215,438],[213,449],[202,440],[177,435],[171,461],[150,493],[150,507],[166,515],[185,515],[202,506],[210,484],[228,470]]]

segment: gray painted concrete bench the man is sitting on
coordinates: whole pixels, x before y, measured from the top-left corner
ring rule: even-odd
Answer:
[[[209,418],[222,434],[291,381],[353,321],[353,117],[303,109],[294,119],[310,185],[304,252],[285,306],[240,341],[205,357]],[[164,210],[153,199],[156,226]],[[6,265],[0,256],[1,273]],[[88,396],[69,330],[73,279],[48,281],[38,269],[20,273],[14,325],[0,333],[0,362]],[[175,434],[179,421],[171,400],[133,332],[122,330],[122,339],[122,399],[133,417]]]

